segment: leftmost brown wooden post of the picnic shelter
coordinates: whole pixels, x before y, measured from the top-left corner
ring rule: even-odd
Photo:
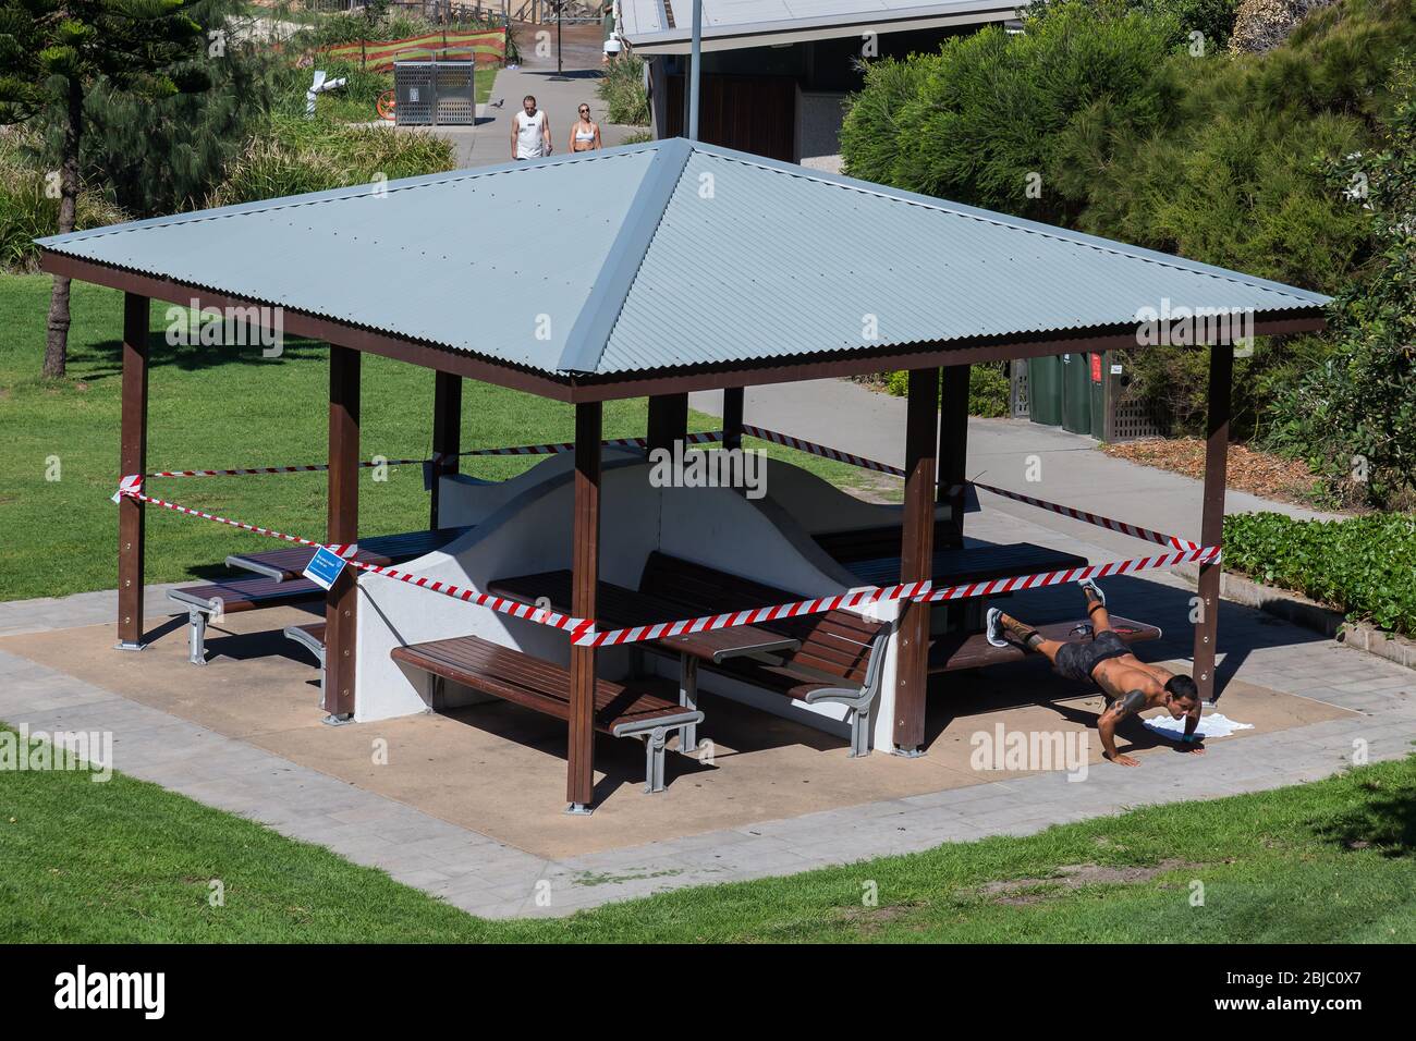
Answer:
[[[149,299],[123,295],[123,421],[119,477],[147,473]],[[143,649],[143,503],[118,501],[118,646]]]

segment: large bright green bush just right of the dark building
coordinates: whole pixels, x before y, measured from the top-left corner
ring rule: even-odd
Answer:
[[[1058,183],[1062,132],[1076,119],[1104,136],[1147,132],[1170,103],[1155,67],[1172,45],[1168,18],[1051,4],[1022,35],[988,25],[939,54],[872,62],[841,127],[854,177],[991,210],[1066,222],[1085,180]],[[1104,144],[1104,142],[1100,142]]]

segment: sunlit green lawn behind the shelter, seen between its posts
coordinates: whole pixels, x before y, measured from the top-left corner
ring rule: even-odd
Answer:
[[[0,601],[110,589],[116,581],[119,334],[122,295],[74,283],[69,380],[38,378],[50,296],[45,275],[0,275]],[[259,347],[170,347],[167,305],[153,305],[149,469],[221,469],[319,463],[326,457],[329,367],[323,344],[293,341],[280,358]],[[367,355],[362,372],[364,457],[428,455],[433,378],[428,370]],[[607,438],[643,435],[643,399],[610,402]],[[714,429],[694,415],[691,429]],[[569,440],[568,405],[467,381],[463,448]],[[841,463],[770,448],[847,487],[871,476]],[[59,480],[48,480],[58,460]],[[463,460],[480,477],[527,469],[525,459]],[[362,470],[360,531],[408,531],[428,523],[418,466],[394,467],[387,483]],[[323,473],[152,482],[157,494],[222,516],[320,538]],[[149,510],[147,581],[229,574],[231,552],[273,548],[269,538]]]

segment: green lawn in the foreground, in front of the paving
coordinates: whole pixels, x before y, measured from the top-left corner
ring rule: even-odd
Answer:
[[[1410,943],[1413,853],[1409,758],[1027,838],[487,922],[156,785],[18,772],[0,785],[0,942]],[[1080,864],[1164,870],[1080,884],[1059,871]],[[878,905],[864,906],[871,882]]]

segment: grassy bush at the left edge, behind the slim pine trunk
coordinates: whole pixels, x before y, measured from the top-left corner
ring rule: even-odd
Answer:
[[[35,163],[37,143],[20,130],[0,132],[0,269],[33,271],[40,249],[33,239],[59,231],[59,200],[45,191],[47,173]],[[103,194],[79,190],[75,229],[101,228],[127,215]]]

